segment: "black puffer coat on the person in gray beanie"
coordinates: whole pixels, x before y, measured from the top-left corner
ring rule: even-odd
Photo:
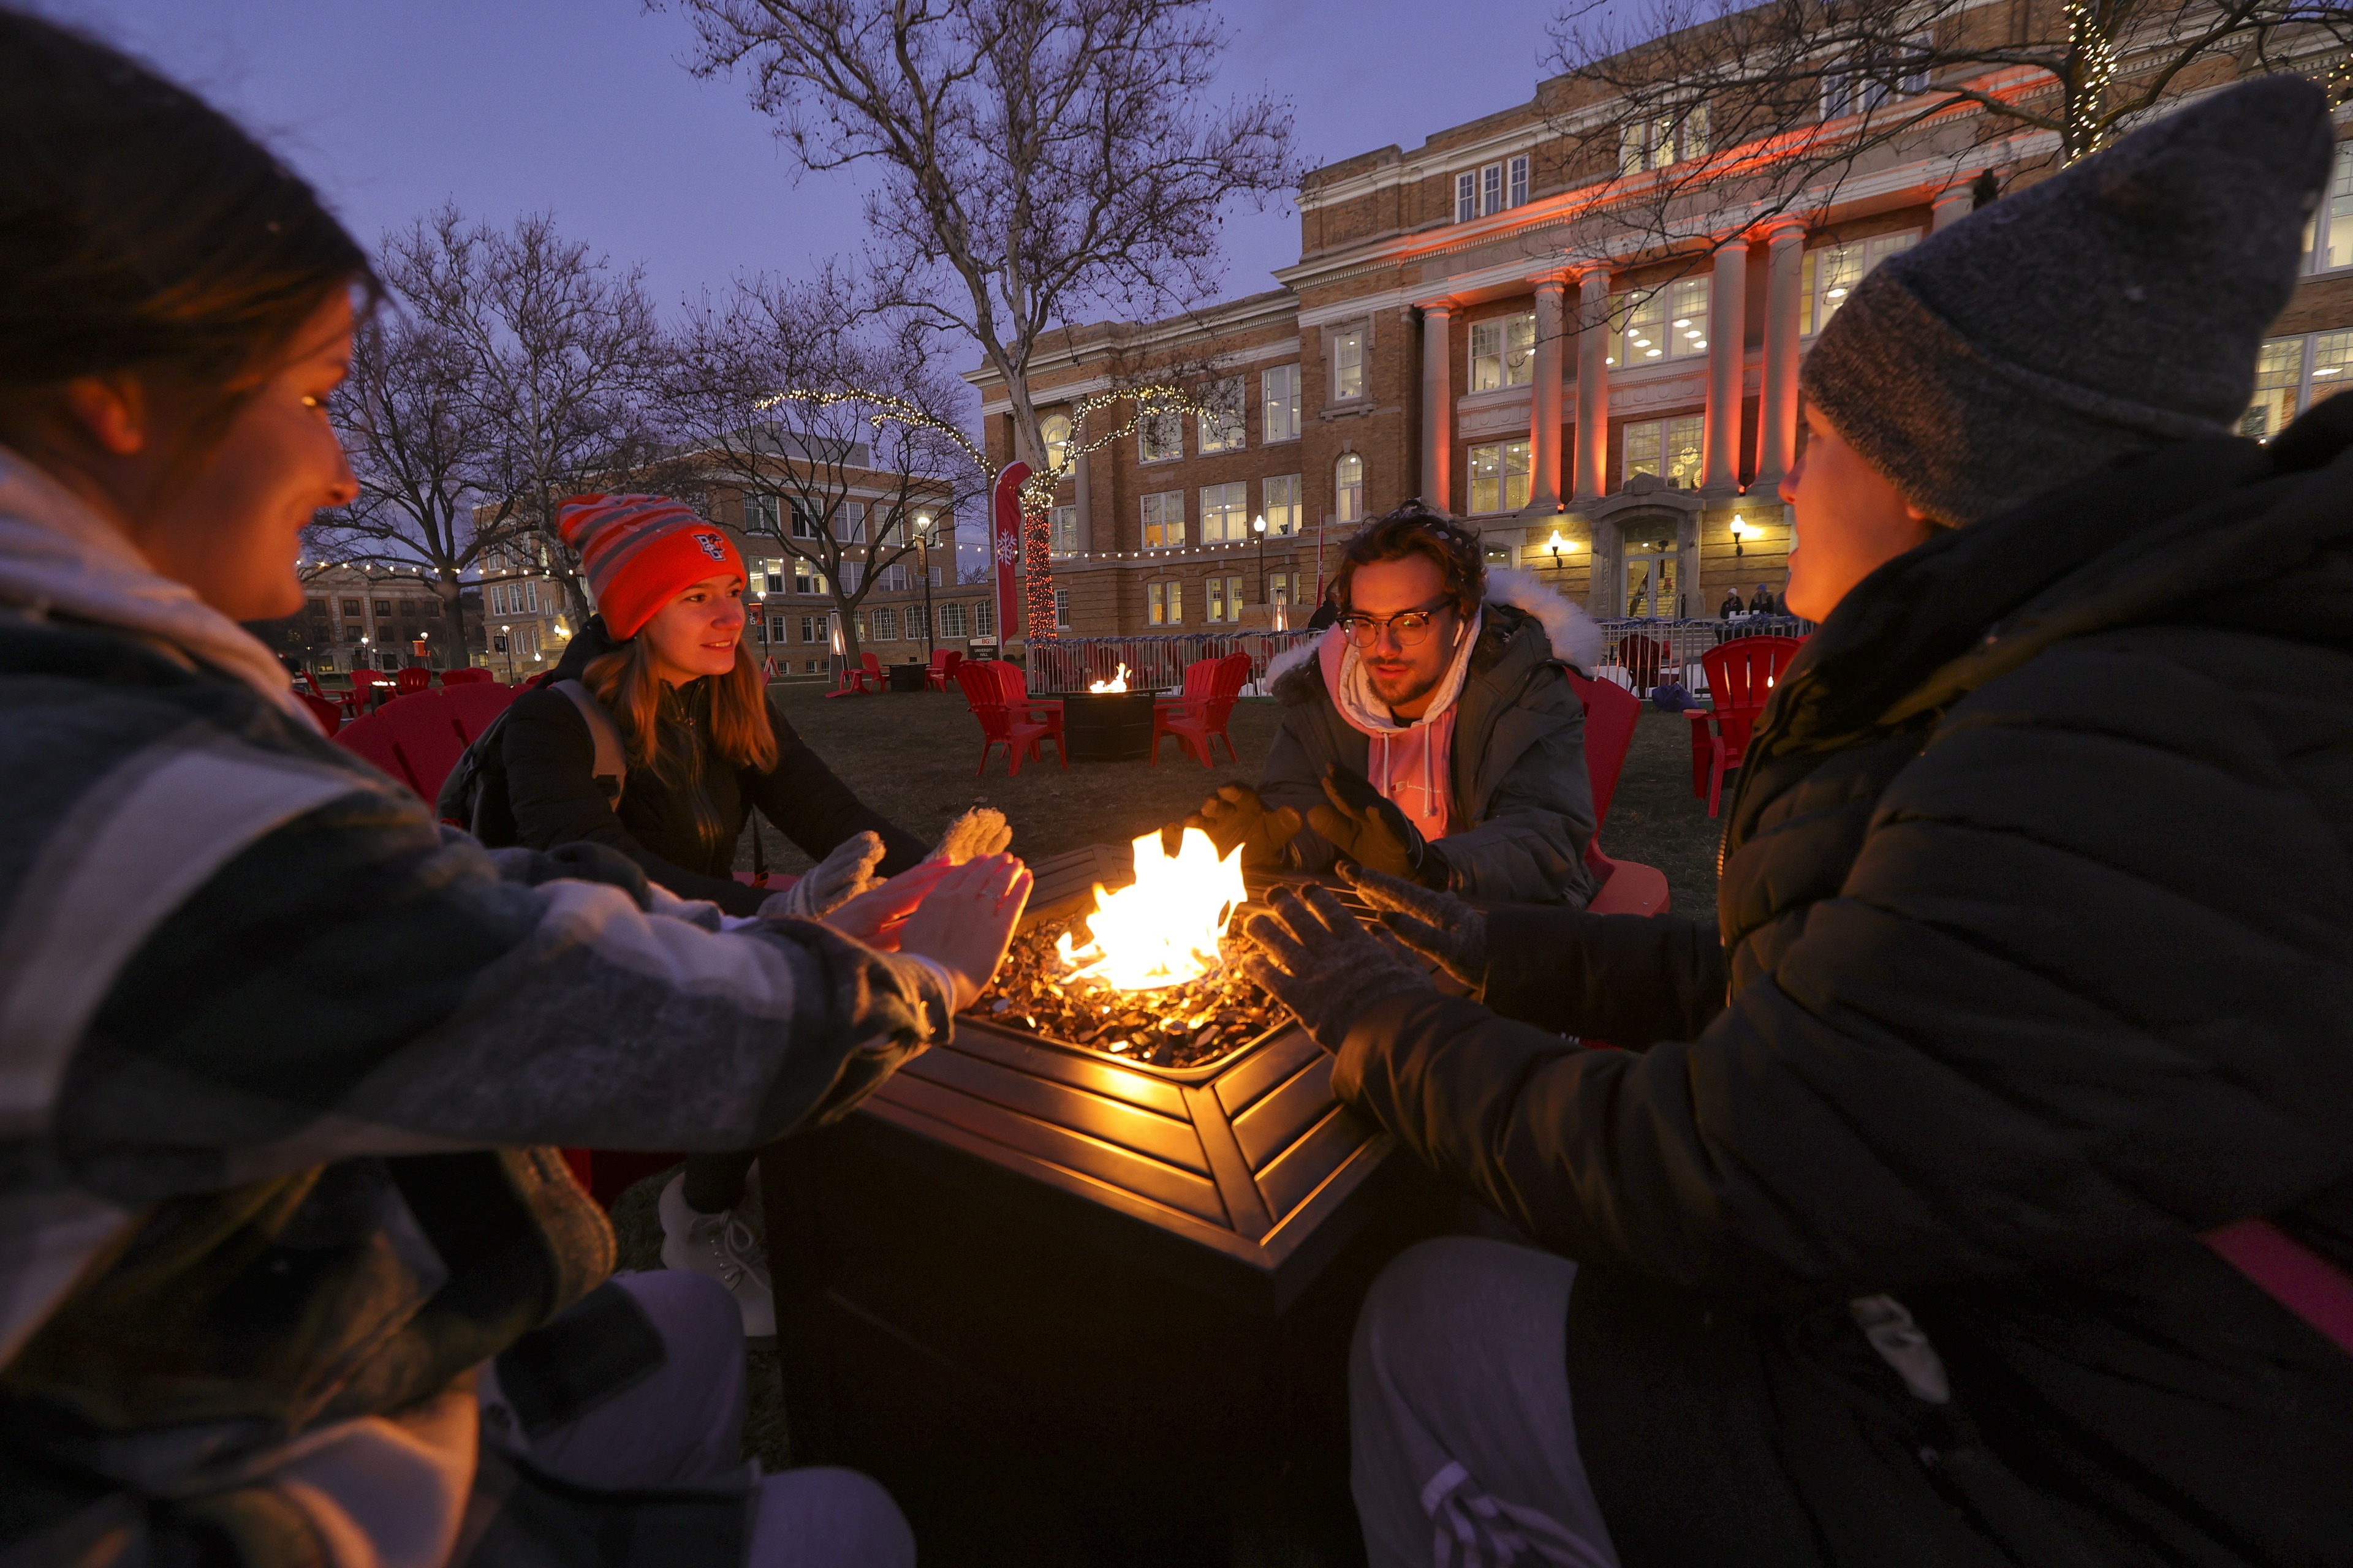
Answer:
[[[1889,562],[1767,708],[1718,931],[1499,914],[1489,1006],[1351,1030],[1339,1093],[1581,1262],[1626,1568],[2353,1563],[2353,1356],[2198,1241],[2353,1267],[2348,447],[2339,397]]]

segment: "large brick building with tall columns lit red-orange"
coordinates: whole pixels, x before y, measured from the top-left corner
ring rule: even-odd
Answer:
[[[1591,214],[1682,148],[1626,139],[1595,169],[1591,143],[1562,136],[1562,92],[1541,82],[1409,153],[1308,174],[1301,254],[1275,292],[1040,346],[1028,386],[1049,442],[1073,400],[1134,383],[1136,364],[1186,364],[1188,386],[1238,409],[1146,421],[1078,458],[1054,512],[1071,635],[1264,625],[1268,602],[1315,597],[1346,524],[1409,496],[1600,618],[1708,616],[1727,588],[1779,592],[1791,524],[1777,484],[1814,334],[1864,273],[1965,216],[1981,172],[2057,146],[1977,146],[1962,106],[1791,207],[1802,219],[1706,214],[1713,254],[1661,254],[1631,233],[1595,237]],[[2245,430],[2278,430],[2348,376],[2353,143],[2339,143]],[[967,378],[991,458],[1009,461],[1002,383]]]

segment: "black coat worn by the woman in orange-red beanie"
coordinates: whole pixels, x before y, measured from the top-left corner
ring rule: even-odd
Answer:
[[[565,649],[555,679],[581,679],[588,661],[619,644],[598,616]],[[734,879],[736,839],[753,806],[776,832],[812,858],[824,858],[856,832],[880,832],[882,875],[892,877],[929,853],[929,846],[878,811],[859,804],[833,769],[786,724],[776,705],[767,708],[776,726],[776,766],[765,773],[715,759],[708,750],[711,682],[687,682],[664,693],[661,748],[666,776],[631,764],[621,804],[612,806],[598,790],[595,741],[588,722],[562,691],[525,691],[508,710],[499,769],[506,802],[513,809],[513,842],[529,849],[558,844],[609,844],[645,867],[680,898],[708,898],[727,914],[755,914],[769,896]],[[496,790],[501,778],[485,778]],[[487,813],[489,820],[496,813]],[[506,842],[504,832],[487,832]]]

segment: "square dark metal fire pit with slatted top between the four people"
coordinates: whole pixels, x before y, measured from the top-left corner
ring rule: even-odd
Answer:
[[[1092,910],[1132,851],[1033,872],[1024,929]],[[934,1566],[1360,1561],[1348,1328],[1452,1208],[1278,1018],[1200,1067],[958,1018],[769,1147],[793,1460],[875,1474]]]

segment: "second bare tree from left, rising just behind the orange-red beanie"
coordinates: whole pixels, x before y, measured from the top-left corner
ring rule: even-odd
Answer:
[[[600,473],[642,477],[659,451],[645,395],[661,331],[645,270],[614,270],[565,240],[551,214],[492,228],[456,207],[393,235],[384,268],[461,362],[471,418],[487,435],[482,529],[544,545],[584,625],[588,595],[555,505]]]

